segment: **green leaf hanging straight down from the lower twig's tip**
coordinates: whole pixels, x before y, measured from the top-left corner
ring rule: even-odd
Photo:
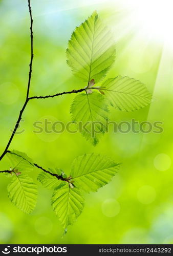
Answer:
[[[61,184],[54,191],[52,206],[62,226],[66,229],[81,214],[84,199],[79,189],[70,188],[69,184]]]

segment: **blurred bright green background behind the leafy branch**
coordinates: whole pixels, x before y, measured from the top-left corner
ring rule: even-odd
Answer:
[[[131,1],[129,1],[131,2]],[[134,2],[134,1],[132,1]],[[139,1],[140,2],[140,1]],[[143,1],[141,1],[143,2]],[[135,3],[135,2],[134,2]],[[26,215],[8,199],[9,179],[0,177],[0,242],[2,244],[142,244],[173,242],[172,189],[172,81],[173,53],[170,40],[154,36],[151,26],[138,23],[130,6],[122,1],[31,0],[34,18],[34,62],[31,96],[54,94],[85,86],[66,64],[68,39],[94,10],[112,29],[117,57],[108,77],[128,75],[143,81],[154,102],[132,113],[112,109],[111,120],[162,121],[161,134],[114,134],[103,136],[93,147],[80,134],[35,134],[33,122],[70,121],[75,95],[33,100],[27,106],[10,149],[27,153],[43,167],[70,172],[73,159],[84,153],[101,153],[122,162],[118,174],[97,193],[85,195],[85,207],[77,222],[63,229],[51,207],[52,191],[38,184],[34,212]],[[135,12],[134,12],[135,11]],[[27,0],[1,0],[1,144],[3,152],[18,112],[26,97],[30,61]],[[146,14],[146,19],[148,18]],[[152,20],[150,20],[152,22]],[[164,29],[164,28],[162,28]],[[9,168],[5,157],[1,170]],[[38,169],[30,175],[36,180]]]

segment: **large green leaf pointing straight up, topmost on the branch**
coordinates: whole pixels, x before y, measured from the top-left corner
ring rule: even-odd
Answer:
[[[66,54],[73,74],[88,83],[99,82],[109,71],[115,61],[114,40],[96,11],[73,31]]]

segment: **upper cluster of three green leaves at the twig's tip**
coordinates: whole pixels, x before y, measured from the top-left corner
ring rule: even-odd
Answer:
[[[102,79],[115,61],[115,43],[95,11],[76,27],[67,48],[67,63],[75,76],[87,82],[85,94],[78,94],[71,106],[72,120],[87,123],[82,135],[96,145],[107,131],[109,105],[117,110],[135,111],[147,106],[152,95],[145,85],[133,78],[117,76]],[[96,133],[93,134],[92,122]]]

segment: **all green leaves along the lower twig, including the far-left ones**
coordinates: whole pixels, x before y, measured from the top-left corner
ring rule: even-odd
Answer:
[[[7,156],[12,163],[11,174],[5,174],[12,178],[7,187],[9,199],[20,210],[30,214],[36,205],[37,186],[26,173],[35,165],[25,153],[12,151]],[[97,191],[111,181],[119,166],[105,156],[87,154],[73,161],[69,177],[59,168],[49,168],[49,172],[41,171],[37,180],[42,186],[54,189],[52,206],[65,230],[82,212],[82,190],[85,193]]]

